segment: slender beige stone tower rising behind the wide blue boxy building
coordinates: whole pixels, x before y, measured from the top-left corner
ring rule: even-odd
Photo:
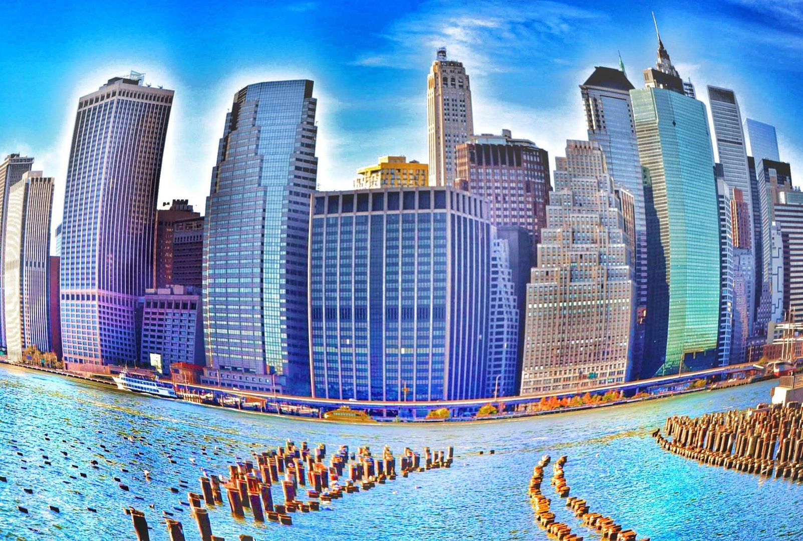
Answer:
[[[450,186],[457,163],[454,147],[474,133],[471,85],[462,62],[446,59],[438,49],[427,77],[426,120],[430,146],[430,185]]]

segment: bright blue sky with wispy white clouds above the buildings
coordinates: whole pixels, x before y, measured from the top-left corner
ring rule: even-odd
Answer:
[[[176,91],[160,198],[203,209],[223,120],[247,83],[309,78],[319,103],[319,181],[346,188],[384,154],[426,161],[426,74],[435,48],[471,75],[475,132],[510,128],[560,156],[585,138],[582,83],[617,65],[641,86],[655,10],[675,67],[731,87],[743,116],[777,126],[803,165],[803,2],[21,2],[0,34],[0,152],[56,177],[54,227],[79,96],[144,71]],[[801,173],[803,174],[803,173]]]

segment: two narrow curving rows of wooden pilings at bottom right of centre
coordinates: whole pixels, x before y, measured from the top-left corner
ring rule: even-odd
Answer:
[[[557,459],[552,466],[552,486],[560,498],[566,499],[566,506],[569,507],[577,519],[580,519],[584,526],[589,527],[601,535],[605,541],[636,541],[636,532],[633,530],[622,529],[622,526],[615,523],[613,519],[592,513],[588,503],[581,498],[569,496],[569,485],[566,483],[564,466],[568,458],[563,456]],[[541,493],[541,482],[544,481],[544,468],[549,463],[548,455],[541,458],[538,465],[533,469],[532,478],[528,494],[533,507],[536,509],[536,522],[547,531],[547,534],[558,541],[582,541],[582,537],[572,533],[572,528],[566,523],[555,521],[555,514],[550,510],[551,501]],[[650,541],[650,539],[642,539]]]

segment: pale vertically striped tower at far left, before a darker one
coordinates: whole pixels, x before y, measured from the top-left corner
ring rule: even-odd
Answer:
[[[21,360],[22,350],[29,346],[51,351],[52,207],[53,179],[43,177],[41,171],[26,171],[8,192],[3,295],[10,360]]]

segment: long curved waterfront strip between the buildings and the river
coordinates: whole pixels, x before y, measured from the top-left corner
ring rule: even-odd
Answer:
[[[48,373],[48,374],[53,374],[55,376],[62,376],[62,377],[73,378],[73,379],[77,379],[77,380],[84,380],[84,381],[88,381],[90,383],[96,383],[96,384],[105,385],[105,386],[114,388],[115,390],[120,390],[120,389],[117,388],[116,384],[112,380],[105,380],[104,378],[100,378],[100,377],[84,376],[83,374],[78,374],[78,373],[75,373],[75,372],[67,372],[67,371],[58,370],[58,369],[55,369],[55,368],[44,368],[44,367],[38,367],[38,366],[31,366],[31,365],[27,365],[27,364],[14,364],[14,363],[9,363],[6,360],[0,360],[0,364],[4,364],[6,366],[10,366],[10,367],[14,367],[14,368],[23,368],[23,369],[26,369],[26,370],[31,370],[33,372],[44,372],[44,373]],[[768,380],[768,379],[772,379],[772,377],[760,376],[760,377],[754,377],[754,378],[750,378],[750,379],[740,380],[738,383],[732,383],[732,384],[728,384],[728,383],[721,384],[721,383],[719,383],[719,384],[713,384],[711,386],[705,386],[705,387],[702,387],[702,388],[687,388],[687,389],[681,389],[681,390],[671,391],[671,392],[666,392],[666,393],[658,393],[658,394],[654,394],[654,395],[648,395],[646,397],[624,398],[622,400],[604,402],[604,403],[600,403],[600,404],[567,406],[567,407],[563,407],[563,408],[548,409],[548,410],[544,410],[544,411],[532,411],[532,412],[527,411],[527,412],[508,413],[508,414],[487,416],[487,417],[455,417],[455,418],[450,418],[450,419],[411,419],[411,418],[393,417],[393,420],[381,420],[381,421],[379,421],[377,419],[372,419],[372,421],[348,421],[348,420],[344,420],[344,419],[324,419],[323,417],[310,417],[310,416],[304,416],[304,415],[296,415],[296,414],[293,414],[293,413],[273,413],[273,412],[258,411],[258,410],[255,410],[255,409],[235,408],[235,407],[226,406],[226,405],[216,405],[216,404],[208,404],[208,403],[205,403],[205,402],[190,401],[190,400],[186,400],[185,398],[181,398],[181,397],[178,397],[178,398],[175,398],[175,399],[173,399],[173,398],[170,398],[170,399],[163,398],[163,400],[181,401],[181,402],[186,403],[186,404],[201,405],[201,406],[206,406],[206,407],[210,407],[210,408],[225,409],[227,411],[235,411],[235,412],[240,412],[240,413],[251,413],[251,414],[255,414],[255,415],[267,415],[267,416],[278,417],[278,418],[289,418],[292,421],[319,421],[319,422],[323,421],[323,422],[328,422],[328,423],[340,423],[340,424],[344,424],[344,425],[404,425],[404,424],[407,424],[407,423],[442,425],[442,424],[451,424],[451,423],[455,423],[455,422],[472,423],[472,424],[474,424],[474,423],[495,423],[495,422],[502,422],[502,421],[517,421],[517,420],[520,420],[520,419],[528,419],[528,418],[531,418],[531,417],[540,417],[542,415],[552,415],[552,414],[557,414],[557,413],[573,413],[573,412],[577,412],[577,411],[583,411],[583,410],[586,410],[586,409],[598,409],[598,408],[605,408],[605,407],[616,406],[616,405],[630,405],[630,404],[636,404],[636,403],[642,402],[642,401],[651,401],[651,400],[658,400],[658,399],[661,399],[661,398],[679,397],[679,396],[683,396],[683,395],[689,394],[689,393],[699,393],[701,391],[716,391],[716,390],[732,388],[732,387],[740,386],[740,385],[748,385],[748,384],[752,384],[752,383],[759,383],[761,381],[765,381],[765,380]],[[125,391],[125,392],[132,393],[132,394],[137,394],[137,395],[141,395],[141,396],[145,396],[145,397],[149,397],[149,398],[160,398],[160,397],[157,397],[155,395],[149,395],[147,393],[133,393],[131,391]],[[226,392],[226,389],[222,388],[221,392]],[[491,402],[491,399],[489,399],[489,403],[490,402]]]

